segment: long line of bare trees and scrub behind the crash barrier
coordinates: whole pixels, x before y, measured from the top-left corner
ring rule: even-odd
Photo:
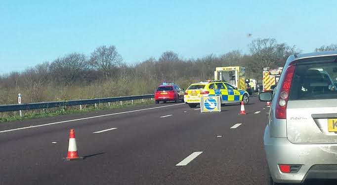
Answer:
[[[248,47],[248,54],[233,50],[185,60],[166,51],[158,59],[126,64],[114,45],[103,45],[89,56],[74,52],[23,72],[1,75],[0,104],[16,103],[17,93],[23,94],[24,102],[40,102],[153,93],[162,81],[186,88],[192,82],[212,79],[215,67],[220,66],[246,67],[246,77],[260,80],[263,67],[282,67],[289,55],[301,52],[274,38],[255,39]],[[314,51],[329,50],[337,50],[337,45]]]

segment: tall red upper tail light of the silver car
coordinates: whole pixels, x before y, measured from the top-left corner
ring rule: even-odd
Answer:
[[[285,77],[281,82],[280,94],[277,98],[275,117],[277,119],[287,118],[287,103],[289,100],[290,87],[293,81],[293,75],[295,72],[295,65],[289,66],[286,70]]]

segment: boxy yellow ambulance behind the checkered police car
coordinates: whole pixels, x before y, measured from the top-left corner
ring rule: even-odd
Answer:
[[[221,80],[231,84],[238,89],[246,89],[246,72],[244,67],[216,67],[214,80]]]

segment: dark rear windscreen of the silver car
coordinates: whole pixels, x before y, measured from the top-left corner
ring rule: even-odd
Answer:
[[[310,63],[296,65],[289,99],[337,99],[337,63]]]

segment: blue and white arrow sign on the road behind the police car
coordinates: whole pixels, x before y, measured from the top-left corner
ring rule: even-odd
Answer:
[[[220,112],[220,96],[202,96],[200,100],[200,110],[201,112]]]

